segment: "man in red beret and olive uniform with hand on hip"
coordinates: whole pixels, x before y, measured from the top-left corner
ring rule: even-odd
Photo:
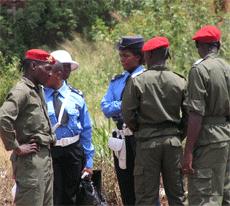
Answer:
[[[26,52],[24,75],[0,108],[0,136],[16,181],[16,206],[53,205],[50,144],[55,142],[40,84],[49,79],[55,60],[40,49]]]

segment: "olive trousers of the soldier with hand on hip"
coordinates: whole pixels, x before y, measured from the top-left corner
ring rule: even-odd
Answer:
[[[50,150],[11,156],[16,180],[16,206],[53,206],[53,168]]]

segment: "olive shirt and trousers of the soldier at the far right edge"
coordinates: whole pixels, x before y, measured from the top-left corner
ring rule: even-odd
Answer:
[[[230,205],[230,66],[211,53],[189,72],[185,101],[203,116],[189,176],[190,205]]]

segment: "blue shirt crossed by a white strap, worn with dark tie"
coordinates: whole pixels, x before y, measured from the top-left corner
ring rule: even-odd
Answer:
[[[51,88],[45,88],[45,98],[48,107],[48,114],[52,126],[58,122],[58,117],[55,115],[53,106],[53,93],[55,90]],[[92,144],[92,126],[90,121],[90,115],[85,103],[84,98],[71,90],[69,86],[63,81],[63,85],[58,89],[59,98],[63,102],[67,97],[65,111],[68,113],[67,124],[60,125],[55,133],[57,140],[65,137],[74,137],[80,135],[80,142],[84,148],[86,154],[86,167],[93,167],[94,146]],[[69,94],[69,95],[68,95]]]

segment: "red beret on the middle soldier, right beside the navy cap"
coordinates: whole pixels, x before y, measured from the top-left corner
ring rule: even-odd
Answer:
[[[169,40],[166,37],[156,36],[144,43],[142,51],[151,51],[160,47],[169,47]]]

